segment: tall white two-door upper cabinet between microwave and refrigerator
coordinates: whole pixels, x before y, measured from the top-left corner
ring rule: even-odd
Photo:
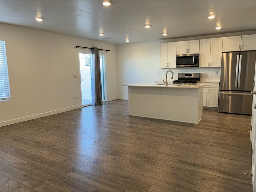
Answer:
[[[199,67],[220,67],[222,37],[200,40]]]

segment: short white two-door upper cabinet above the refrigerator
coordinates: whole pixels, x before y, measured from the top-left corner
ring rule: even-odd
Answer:
[[[256,35],[223,37],[223,52],[256,50]]]

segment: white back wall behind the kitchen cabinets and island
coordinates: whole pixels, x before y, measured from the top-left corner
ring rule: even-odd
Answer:
[[[200,36],[182,39],[126,43],[117,45],[117,95],[119,99],[128,99],[128,87],[125,84],[154,83],[166,76],[170,69],[159,68],[159,44],[164,42],[217,38],[224,36],[256,34],[256,31]],[[201,78],[220,79],[220,67],[213,68],[173,68],[173,80],[178,79],[178,73],[199,72]],[[215,75],[215,71],[218,75]],[[171,77],[168,74],[168,78]]]

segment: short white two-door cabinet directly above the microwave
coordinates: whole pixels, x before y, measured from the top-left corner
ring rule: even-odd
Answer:
[[[199,40],[177,42],[177,55],[195,53],[199,53]]]

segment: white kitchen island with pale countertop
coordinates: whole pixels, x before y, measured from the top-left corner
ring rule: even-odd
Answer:
[[[129,115],[197,124],[202,117],[203,85],[131,84]]]

